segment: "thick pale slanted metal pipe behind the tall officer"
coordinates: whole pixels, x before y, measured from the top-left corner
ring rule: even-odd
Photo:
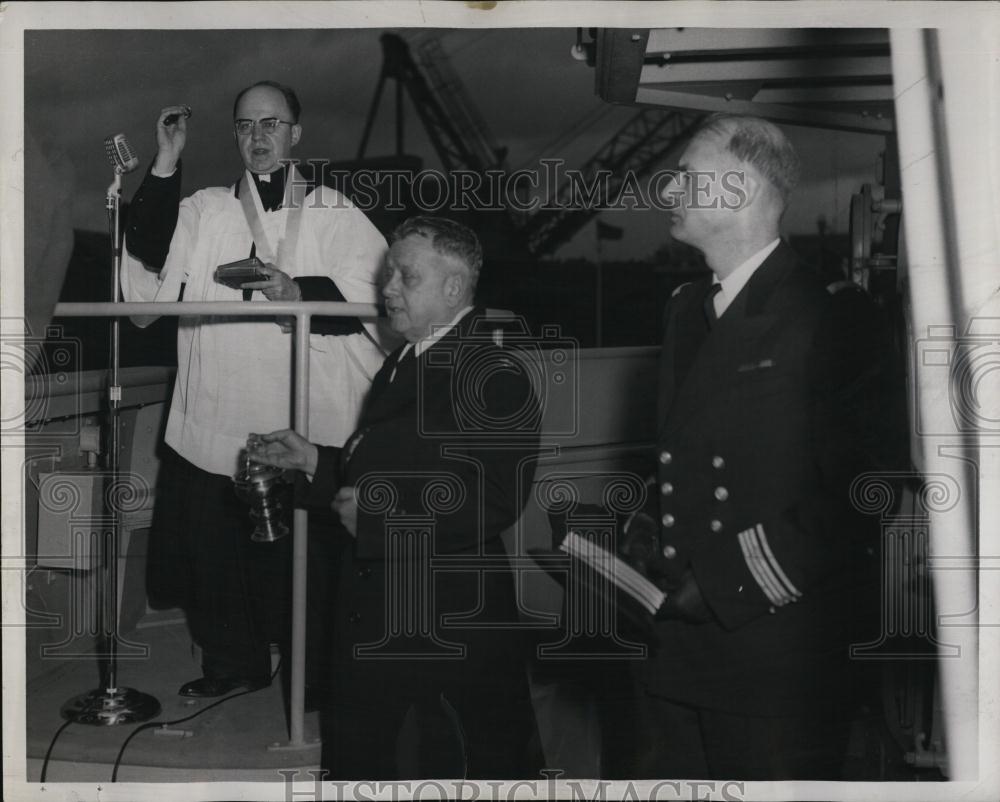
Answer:
[[[933,31],[893,29],[892,75],[895,92],[896,130],[899,141],[900,177],[906,214],[907,271],[913,315],[913,341],[919,350],[926,339],[937,340],[939,352],[958,346],[965,322],[960,298],[962,265],[955,244],[957,201],[947,162],[950,154],[942,140],[944,109],[934,61]],[[930,38],[928,38],[930,37]],[[920,421],[941,419],[949,399],[948,368],[913,360],[912,391]],[[942,370],[944,373],[942,373]],[[914,458],[924,475],[946,477],[955,483],[950,506],[933,504],[930,522],[930,560],[964,558],[974,565],[975,516],[971,507],[977,497],[975,480],[966,460],[962,433],[942,425],[916,427]],[[950,495],[950,494],[948,494]],[[977,609],[976,577],[972,572],[934,571],[933,589],[939,626],[947,619]],[[971,780],[978,773],[978,632],[975,626],[940,629],[942,645],[958,657],[942,653],[938,659],[939,682],[944,700],[947,748],[945,774],[953,780]]]

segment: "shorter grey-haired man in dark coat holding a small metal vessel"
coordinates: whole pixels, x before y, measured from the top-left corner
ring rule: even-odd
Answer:
[[[405,222],[382,294],[406,343],[355,434],[342,449],[288,431],[251,444],[254,459],[311,476],[305,501],[332,501],[354,536],[330,611],[322,765],[333,779],[397,778],[407,710],[442,700],[466,777],[525,776],[534,718],[500,534],[526,501],[540,412],[516,343],[472,306],[481,263],[464,226]]]

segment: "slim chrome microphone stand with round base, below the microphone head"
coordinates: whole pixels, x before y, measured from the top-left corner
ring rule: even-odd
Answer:
[[[124,170],[115,164],[115,178],[108,187],[105,208],[108,210],[108,230],[111,234],[111,301],[121,301],[121,194]],[[107,657],[104,688],[74,696],[62,707],[62,716],[77,724],[111,726],[149,721],[160,714],[160,703],[154,696],[133,688],[118,687],[118,534],[120,531],[117,490],[119,480],[119,443],[121,439],[121,396],[119,368],[119,318],[111,318],[111,368],[108,374],[108,410],[110,432],[108,445],[108,485],[104,499],[110,531],[99,538],[99,559],[103,572],[99,584],[98,615]]]

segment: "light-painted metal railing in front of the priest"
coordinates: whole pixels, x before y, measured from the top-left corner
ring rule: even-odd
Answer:
[[[290,317],[295,319],[292,428],[309,438],[309,329],[314,316],[374,319],[374,304],[333,301],[192,301],[172,303],[61,303],[56,317]],[[276,427],[277,428],[277,427]],[[308,513],[296,509],[292,541],[292,654],[289,741],[285,748],[307,746],[304,737],[306,658],[306,538]]]

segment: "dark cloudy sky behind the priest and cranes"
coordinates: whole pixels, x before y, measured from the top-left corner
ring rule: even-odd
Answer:
[[[381,69],[379,36],[384,30],[28,31],[25,122],[49,153],[65,154],[73,165],[74,224],[104,230],[111,170],[103,138],[126,134],[145,170],[155,153],[156,113],[167,104],[186,103],[194,109],[184,152],[185,193],[234,180],[240,162],[231,134],[233,96],[264,78],[288,83],[299,93],[304,133],[294,155],[353,157]],[[594,69],[570,56],[573,28],[403,33],[411,39],[439,37],[496,140],[509,149],[513,167],[536,162],[539,155],[579,165],[635,113],[606,106],[596,96]],[[393,150],[390,105],[391,92],[386,92],[368,155]],[[597,124],[556,151],[541,153],[578,120],[602,108]],[[803,194],[809,200],[793,208],[789,229],[812,232],[823,214],[831,230],[846,231],[849,194],[871,180],[880,139],[803,128],[790,133],[806,165]],[[439,166],[412,113],[407,150],[422,156],[425,166]],[[140,175],[126,177],[126,198]],[[606,257],[642,257],[654,251],[667,238],[661,215],[604,213],[602,219],[626,228],[624,240],[607,243]],[[558,255],[588,256],[593,244],[591,224]]]

